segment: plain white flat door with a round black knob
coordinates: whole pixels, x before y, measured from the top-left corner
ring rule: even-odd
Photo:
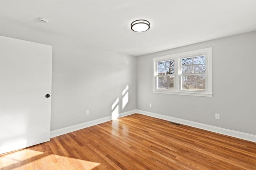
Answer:
[[[50,140],[52,46],[0,36],[0,154]]]

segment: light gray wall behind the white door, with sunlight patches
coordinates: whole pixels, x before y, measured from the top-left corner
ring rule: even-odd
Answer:
[[[0,35],[53,46],[51,131],[111,116],[117,98],[119,113],[136,109],[136,57],[4,21]]]

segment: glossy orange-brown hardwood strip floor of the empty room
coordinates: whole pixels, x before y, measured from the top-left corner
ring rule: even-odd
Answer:
[[[0,155],[1,170],[254,170],[256,143],[140,114]]]

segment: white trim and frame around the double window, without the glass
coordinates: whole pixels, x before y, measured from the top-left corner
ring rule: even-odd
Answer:
[[[205,55],[206,59],[206,81],[205,81],[205,91],[186,91],[181,90],[181,67],[178,69],[178,66],[180,66],[180,61],[182,58],[186,57],[193,57],[197,55]],[[157,63],[160,61],[167,61],[167,60],[174,60],[174,90],[159,90],[156,89],[157,81],[156,81],[156,75],[157,73]],[[178,94],[178,95],[188,95],[188,96],[204,96],[204,97],[212,97],[212,48],[206,48],[206,49],[200,49],[200,50],[194,50],[194,51],[188,51],[184,53],[178,53],[173,55],[166,55],[162,57],[156,57],[153,58],[153,93],[162,93],[162,94]]]

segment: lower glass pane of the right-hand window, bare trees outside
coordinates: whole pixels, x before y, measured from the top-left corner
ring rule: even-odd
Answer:
[[[182,90],[205,90],[205,74],[182,75]]]

